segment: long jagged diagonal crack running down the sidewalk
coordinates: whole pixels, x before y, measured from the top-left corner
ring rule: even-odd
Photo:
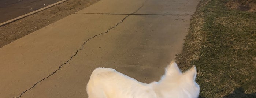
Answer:
[[[145,1],[146,1],[146,0],[145,0]],[[144,3],[145,3],[145,2],[144,2]],[[142,4],[142,6],[144,6],[144,3]],[[141,7],[142,7],[142,6],[141,6]],[[140,8],[141,8],[141,7],[140,7]],[[136,13],[140,8],[138,8],[138,9],[137,9],[135,12],[133,12],[132,14]],[[121,22],[117,23],[114,27],[111,27],[110,29],[108,29],[108,30],[107,30],[106,32],[104,32],[104,33],[108,33],[109,30],[111,30],[111,29],[115,28],[116,26],[118,26],[118,24],[122,23],[122,22],[123,22],[127,17],[129,17],[129,16],[130,16],[130,15],[125,16],[125,18],[123,18],[123,20],[122,20]],[[81,49],[78,49],[78,50],[75,52],[75,54],[70,57],[70,59],[68,59],[65,63],[63,63],[62,65],[60,65],[60,66],[59,66],[59,69],[57,69],[57,70],[55,70],[54,72],[52,72],[51,75],[48,75],[47,77],[43,78],[42,80],[36,82],[32,87],[30,87],[29,89],[23,91],[18,97],[15,97],[15,98],[21,97],[24,93],[26,93],[27,91],[29,91],[30,89],[32,89],[33,87],[35,87],[39,82],[41,82],[41,81],[43,81],[44,79],[46,79],[46,78],[48,78],[48,77],[54,75],[57,71],[59,71],[59,70],[62,68],[63,65],[67,64],[70,60],[72,60],[72,58],[73,58],[75,55],[77,55],[77,53],[78,53],[80,50],[82,50],[82,49],[84,48],[84,45],[85,45],[90,39],[95,38],[95,37],[97,37],[97,36],[99,36],[99,35],[101,35],[101,34],[104,34],[104,33],[100,33],[100,34],[94,35],[93,37],[87,39],[87,40],[84,42],[84,44],[81,45]]]

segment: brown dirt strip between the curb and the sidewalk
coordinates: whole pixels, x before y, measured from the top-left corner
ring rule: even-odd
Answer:
[[[0,27],[0,48],[100,0],[68,0]]]

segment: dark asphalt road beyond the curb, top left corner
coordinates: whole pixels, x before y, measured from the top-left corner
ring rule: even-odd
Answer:
[[[61,0],[0,0],[0,23]]]

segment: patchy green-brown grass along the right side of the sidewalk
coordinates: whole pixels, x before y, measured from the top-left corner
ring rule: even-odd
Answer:
[[[256,98],[256,12],[201,0],[177,62],[196,65],[200,97]]]

